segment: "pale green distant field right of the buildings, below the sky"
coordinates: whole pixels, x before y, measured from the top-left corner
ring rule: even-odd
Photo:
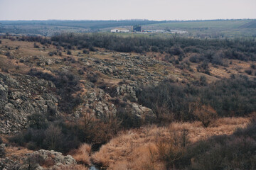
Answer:
[[[150,24],[144,29],[186,30],[199,38],[250,38],[256,36],[255,20],[180,21]]]

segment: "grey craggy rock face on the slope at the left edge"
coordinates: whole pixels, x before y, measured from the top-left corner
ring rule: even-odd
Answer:
[[[0,74],[0,134],[28,126],[33,113],[58,113],[58,98],[51,81],[21,74]]]

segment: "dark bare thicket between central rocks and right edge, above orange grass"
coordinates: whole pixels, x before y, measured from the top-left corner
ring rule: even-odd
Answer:
[[[137,96],[139,103],[156,113],[159,123],[198,118],[207,126],[217,115],[242,116],[255,112],[255,96],[251,95],[256,93],[255,87],[255,80],[238,76],[205,86],[169,80],[157,86],[142,86]]]

